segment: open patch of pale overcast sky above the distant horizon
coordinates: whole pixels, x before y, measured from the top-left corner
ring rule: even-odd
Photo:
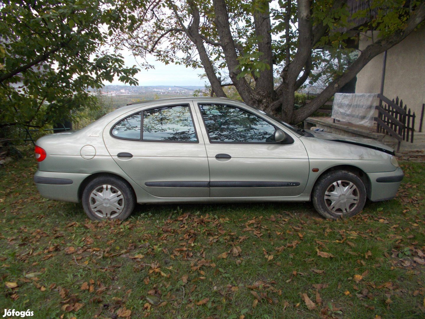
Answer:
[[[133,65],[138,66],[136,59],[129,51],[122,51],[122,56],[125,60],[125,65],[130,67]],[[140,68],[141,71],[136,74],[136,78],[139,80],[140,86],[150,86],[150,85],[200,85],[204,86],[206,80],[201,80],[198,74],[204,73],[204,70],[198,69],[193,70],[192,68],[186,68],[185,66],[179,66],[175,64],[164,65],[164,63],[155,61],[152,57],[149,59],[149,62],[155,66],[154,69],[145,70]],[[104,82],[105,85],[114,84],[114,85],[124,85],[124,83],[119,82],[118,79],[114,80],[113,83],[107,81]]]

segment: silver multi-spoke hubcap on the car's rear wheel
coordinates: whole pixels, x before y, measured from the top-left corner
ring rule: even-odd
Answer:
[[[112,185],[100,185],[90,194],[90,208],[101,218],[115,218],[124,209],[121,191]]]

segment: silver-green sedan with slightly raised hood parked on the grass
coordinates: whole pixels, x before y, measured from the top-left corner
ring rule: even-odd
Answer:
[[[40,194],[82,202],[96,220],[125,219],[136,202],[310,200],[337,219],[393,198],[403,178],[386,145],[300,130],[225,98],[134,103],[36,145]]]

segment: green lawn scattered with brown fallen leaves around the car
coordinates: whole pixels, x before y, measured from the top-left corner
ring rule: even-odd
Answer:
[[[34,162],[0,171],[1,316],[425,316],[423,163],[403,162],[397,197],[349,220],[260,203],[137,205],[125,222],[99,223],[79,204],[41,198]]]

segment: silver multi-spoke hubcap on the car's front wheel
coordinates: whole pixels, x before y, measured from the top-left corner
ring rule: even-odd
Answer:
[[[334,214],[343,215],[356,209],[360,199],[356,185],[346,180],[333,182],[326,189],[325,204]]]

